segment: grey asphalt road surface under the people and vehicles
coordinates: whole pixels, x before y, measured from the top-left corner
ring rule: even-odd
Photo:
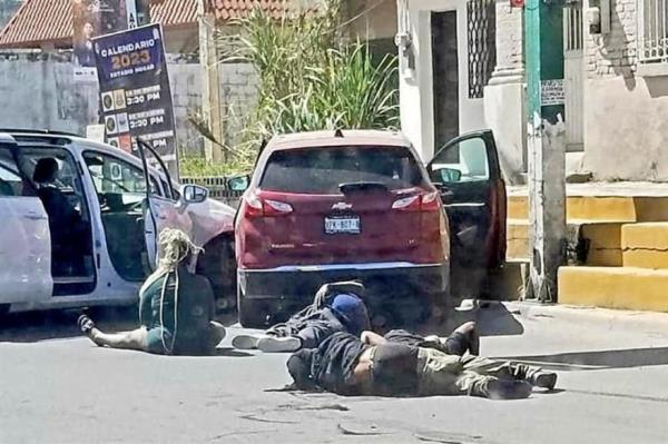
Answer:
[[[668,442],[668,316],[514,304],[466,316],[484,355],[549,363],[558,389],[522,401],[271,392],[289,382],[287,356],[233,351],[239,328],[218,356],[163,357],[98,348],[73,314],[14,316],[0,327],[0,443]]]

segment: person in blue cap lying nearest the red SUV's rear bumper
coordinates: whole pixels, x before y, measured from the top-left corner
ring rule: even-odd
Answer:
[[[240,349],[285,353],[317,347],[336,332],[360,335],[371,328],[363,295],[364,285],[356,282],[325,284],[313,303],[286,323],[276,324],[261,335],[237,335],[232,345]]]

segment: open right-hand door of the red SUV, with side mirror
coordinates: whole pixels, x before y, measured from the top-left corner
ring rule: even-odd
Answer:
[[[495,268],[505,260],[505,184],[492,131],[460,136],[428,165],[450,221],[455,266]]]

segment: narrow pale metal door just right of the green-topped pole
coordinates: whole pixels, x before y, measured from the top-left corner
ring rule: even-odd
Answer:
[[[582,3],[569,3],[563,8],[563,92],[568,151],[581,151],[584,141],[582,31]]]

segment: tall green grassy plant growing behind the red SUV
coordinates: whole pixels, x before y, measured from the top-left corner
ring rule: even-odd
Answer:
[[[220,34],[223,62],[253,63],[259,76],[255,110],[244,119],[245,162],[275,135],[320,129],[395,128],[396,57],[374,62],[369,46],[342,36],[340,1],[275,20],[261,9],[238,21],[240,36]]]

